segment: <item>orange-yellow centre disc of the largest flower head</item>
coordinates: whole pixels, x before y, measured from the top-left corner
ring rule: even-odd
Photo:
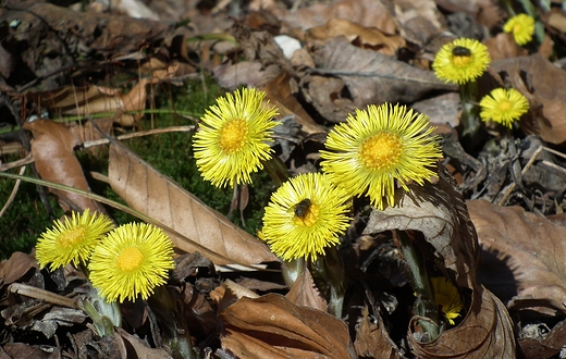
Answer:
[[[403,143],[396,134],[381,132],[361,144],[359,158],[365,166],[381,170],[395,164],[403,151]]]

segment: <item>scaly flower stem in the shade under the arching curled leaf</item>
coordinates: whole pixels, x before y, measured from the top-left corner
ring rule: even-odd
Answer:
[[[417,295],[414,305],[415,313],[430,319],[430,321],[419,320],[419,324],[424,333],[429,334],[429,339],[433,341],[439,336],[439,308],[434,302],[434,292],[427,274],[424,259],[415,248],[407,233],[397,231],[396,235],[403,257],[407,261],[407,277]]]

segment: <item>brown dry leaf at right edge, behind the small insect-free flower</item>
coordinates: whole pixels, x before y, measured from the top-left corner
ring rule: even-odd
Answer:
[[[525,133],[537,134],[551,144],[566,141],[566,71],[537,53],[494,61],[489,72],[500,86],[508,82],[529,100],[529,115],[520,121]]]

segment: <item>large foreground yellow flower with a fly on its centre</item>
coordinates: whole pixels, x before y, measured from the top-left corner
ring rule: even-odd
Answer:
[[[316,260],[348,227],[348,199],[327,176],[299,174],[271,195],[260,238],[283,260]]]

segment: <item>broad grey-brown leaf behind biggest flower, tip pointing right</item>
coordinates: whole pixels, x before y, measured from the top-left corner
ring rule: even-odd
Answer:
[[[440,82],[431,71],[357,48],[342,38],[329,40],[315,52],[313,59],[317,70],[306,76],[302,87],[307,92],[305,96],[313,99],[312,106],[317,111],[332,122],[345,121],[353,109],[362,109],[369,103],[415,102],[432,91],[456,89],[455,85]],[[329,77],[336,77],[345,88],[336,88],[334,95],[320,97],[316,92],[327,92],[328,89],[320,87],[320,83],[309,85],[311,77],[327,82]],[[344,92],[349,97],[342,98]],[[337,102],[336,99],[341,98],[342,102]]]

